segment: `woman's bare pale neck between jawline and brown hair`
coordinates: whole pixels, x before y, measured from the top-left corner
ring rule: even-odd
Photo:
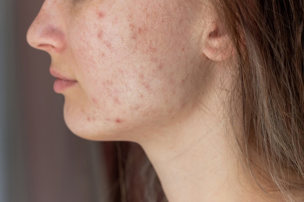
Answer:
[[[166,128],[160,139],[140,142],[169,202],[266,202],[246,186],[235,136],[220,116],[219,97],[208,99],[209,105]]]

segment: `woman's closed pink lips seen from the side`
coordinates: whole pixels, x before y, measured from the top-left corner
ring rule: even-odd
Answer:
[[[53,69],[50,69],[50,73],[53,77],[57,78],[53,85],[53,89],[56,93],[63,93],[65,90],[78,83],[77,80],[63,76]]]

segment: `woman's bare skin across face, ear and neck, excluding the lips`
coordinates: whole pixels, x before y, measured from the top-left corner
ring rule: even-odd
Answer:
[[[71,131],[138,142],[169,202],[266,202],[227,139],[234,51],[218,29],[203,0],[46,0],[27,38],[77,81],[61,92]]]

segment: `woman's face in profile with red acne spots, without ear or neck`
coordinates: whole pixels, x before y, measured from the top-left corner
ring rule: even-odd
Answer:
[[[184,0],[45,0],[28,41],[51,55],[51,74],[60,78],[54,90],[65,96],[75,134],[138,139],[190,113],[203,63],[202,18],[193,7]]]

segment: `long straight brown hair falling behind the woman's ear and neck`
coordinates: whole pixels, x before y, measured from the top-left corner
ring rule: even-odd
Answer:
[[[235,89],[239,92],[236,90],[234,96],[241,98],[243,131],[238,140],[245,162],[253,176],[266,174],[286,201],[303,200],[304,0],[211,3],[236,48]],[[231,114],[235,115],[233,111]],[[258,154],[261,164],[254,161],[253,153]],[[141,162],[152,168],[147,158],[141,158]],[[159,182],[148,167],[146,171],[153,177],[143,176],[147,179],[141,183],[149,184],[154,190],[151,193],[161,192],[162,196],[148,201],[162,201],[162,191],[155,188]],[[138,186],[134,188],[142,191]]]

